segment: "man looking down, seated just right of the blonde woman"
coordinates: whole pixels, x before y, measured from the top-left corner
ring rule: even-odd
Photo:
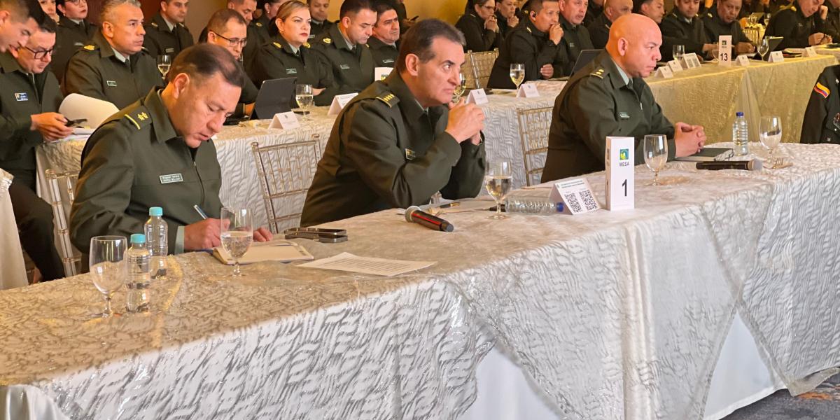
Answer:
[[[366,45],[376,24],[369,0],[345,0],[341,20],[312,42],[333,71],[336,94],[361,92],[373,82],[374,63]]]

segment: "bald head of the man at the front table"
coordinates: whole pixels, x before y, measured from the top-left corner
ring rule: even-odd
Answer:
[[[627,76],[646,77],[662,58],[659,54],[661,45],[659,26],[647,16],[630,13],[612,23],[606,51]]]

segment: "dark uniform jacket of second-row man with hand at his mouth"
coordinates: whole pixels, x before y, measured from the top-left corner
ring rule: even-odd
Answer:
[[[548,34],[540,32],[530,20],[525,20],[524,24],[519,24],[517,29],[513,29],[502,44],[487,86],[515,88],[516,85],[511,81],[512,63],[525,65],[524,81],[542,79],[539,69],[547,64],[554,66],[553,77],[563,76],[563,64],[568,60],[564,55],[564,50],[559,49],[557,44],[549,39]]]

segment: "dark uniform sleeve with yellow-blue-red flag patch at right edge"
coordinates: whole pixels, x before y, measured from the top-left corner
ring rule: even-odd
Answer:
[[[827,66],[816,79],[802,120],[804,144],[840,144],[840,66]]]

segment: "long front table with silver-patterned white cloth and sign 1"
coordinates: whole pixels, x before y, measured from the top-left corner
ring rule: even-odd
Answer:
[[[88,319],[87,275],[0,291],[0,412],[51,418],[456,418],[501,346],[566,418],[700,418],[738,315],[791,392],[840,365],[840,153],[696,171],[636,208],[580,216],[449,213],[451,234],[396,210],[350,218],[352,252],[437,261],[382,278],[209,255],[172,257],[152,312]],[[586,176],[603,202],[604,176]],[[118,299],[119,301],[119,299]],[[811,375],[814,373],[816,375]],[[13,417],[14,418],[14,417]]]

